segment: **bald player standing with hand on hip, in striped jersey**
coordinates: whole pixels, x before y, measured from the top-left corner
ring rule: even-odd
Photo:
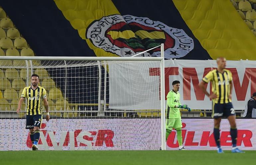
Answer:
[[[230,135],[232,139],[232,152],[243,153],[236,146],[237,129],[235,122],[235,110],[231,103],[232,73],[225,69],[226,59],[217,58],[217,69],[211,70],[199,83],[201,90],[212,99],[212,118],[214,118],[213,134],[217,145],[217,152],[224,153],[220,147],[219,126],[221,117],[227,117],[230,123]],[[212,94],[206,91],[205,84],[212,82]]]

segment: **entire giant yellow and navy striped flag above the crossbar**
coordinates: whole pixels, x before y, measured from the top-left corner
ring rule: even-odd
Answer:
[[[256,59],[255,36],[229,0],[28,0],[1,5],[37,55],[130,56],[165,43],[167,59]]]

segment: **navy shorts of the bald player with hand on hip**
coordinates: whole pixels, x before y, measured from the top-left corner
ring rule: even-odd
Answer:
[[[235,110],[232,103],[213,103],[212,105],[212,118],[229,117],[235,115]]]

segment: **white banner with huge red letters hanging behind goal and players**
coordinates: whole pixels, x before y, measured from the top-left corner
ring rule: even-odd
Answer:
[[[131,82],[132,86],[134,87],[140,87],[143,85],[142,81],[132,79],[133,77],[131,77],[131,72],[133,72],[135,69],[133,69],[133,67],[131,67],[129,64],[114,66],[115,69],[112,69],[113,72],[111,72],[110,66],[109,85],[110,89],[118,90],[109,91],[109,108],[136,110],[141,109],[140,106],[137,106],[140,104],[147,105],[145,106],[145,109],[160,109],[159,100],[156,100],[160,97],[152,97],[150,98],[151,100],[145,99],[146,95],[152,95],[152,93],[158,94],[159,96],[159,67],[152,65],[152,67],[148,67],[148,73],[145,73],[145,70],[143,69],[143,74],[138,73],[138,67],[135,68],[136,74],[141,76],[141,79],[143,80],[152,80],[152,77],[157,77],[159,79],[159,81],[155,81],[155,85],[149,84],[147,90],[142,96],[138,89],[136,90],[134,88],[131,91],[130,88],[128,88]],[[205,76],[211,69],[216,67],[217,64],[215,60],[165,60],[165,99],[168,92],[173,89],[172,82],[174,80],[179,80],[181,82],[179,90],[181,95],[181,104],[187,104],[191,109],[211,109],[211,100],[199,89],[198,83],[202,80],[203,76]],[[256,61],[227,61],[226,69],[229,69],[232,72],[232,103],[234,109],[244,110],[246,100],[248,100],[248,98],[250,98],[250,96],[256,92]],[[129,79],[127,77],[131,78]],[[210,90],[211,83],[208,83],[207,91],[210,92]],[[129,96],[132,96],[133,99],[129,99]],[[134,99],[137,99],[137,102],[135,102]],[[136,104],[134,104],[134,102]]]

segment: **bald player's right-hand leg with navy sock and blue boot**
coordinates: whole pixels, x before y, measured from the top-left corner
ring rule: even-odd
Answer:
[[[232,150],[231,152],[234,153],[244,153],[243,151],[239,150],[236,146],[236,139],[237,139],[237,129],[236,129],[236,122],[235,122],[235,115],[231,115],[228,118],[230,124],[230,135],[232,139]]]

